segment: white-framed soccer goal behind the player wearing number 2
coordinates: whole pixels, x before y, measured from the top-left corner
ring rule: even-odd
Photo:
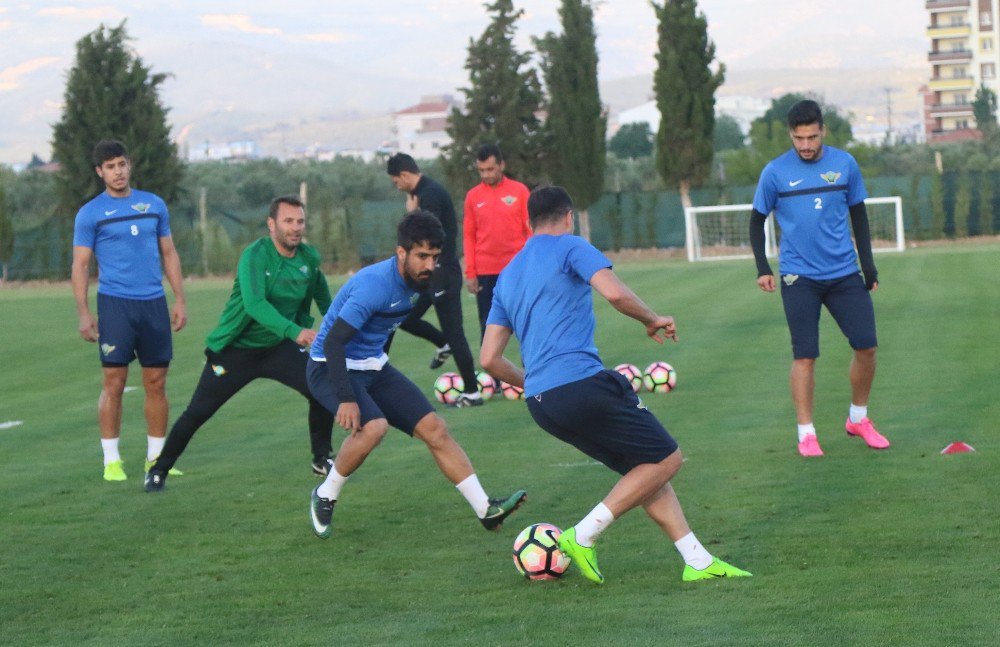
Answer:
[[[868,198],[868,223],[872,250],[896,251],[906,248],[903,234],[903,200],[899,197]],[[750,214],[753,205],[733,204],[691,207],[684,210],[685,241],[689,261],[718,261],[753,258],[750,248]],[[764,250],[768,258],[778,255],[781,230],[769,217],[764,225]]]

